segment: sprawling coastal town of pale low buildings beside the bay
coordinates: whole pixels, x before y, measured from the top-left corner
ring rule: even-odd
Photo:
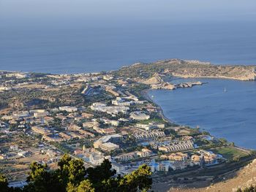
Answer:
[[[156,177],[250,155],[200,128],[167,120],[146,93],[159,85],[111,72],[0,72],[1,172],[19,187],[26,185],[31,162],[54,169],[64,153],[86,167],[108,159],[121,175],[147,164]]]

